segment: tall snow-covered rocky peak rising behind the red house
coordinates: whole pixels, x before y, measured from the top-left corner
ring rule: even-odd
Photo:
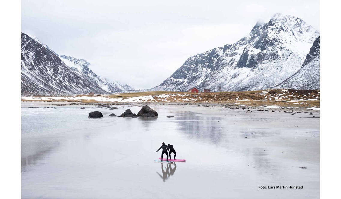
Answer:
[[[187,91],[191,87],[216,91],[219,87],[222,91],[267,89],[300,70],[319,35],[300,18],[275,14],[269,22],[257,23],[248,36],[236,43],[190,57],[161,85],[149,90]],[[303,78],[300,81],[306,81],[308,77],[300,78]]]

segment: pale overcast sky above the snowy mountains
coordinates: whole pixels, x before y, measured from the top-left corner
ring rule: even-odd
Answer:
[[[21,30],[97,75],[152,88],[190,56],[233,44],[258,20],[293,15],[320,30],[317,0],[22,0]]]

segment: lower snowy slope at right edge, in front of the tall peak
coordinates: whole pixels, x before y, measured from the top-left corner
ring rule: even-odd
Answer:
[[[300,70],[275,88],[320,89],[320,37],[314,41]]]

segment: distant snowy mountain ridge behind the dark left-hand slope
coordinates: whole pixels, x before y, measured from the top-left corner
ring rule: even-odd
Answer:
[[[84,59],[76,59],[74,57],[69,57],[65,55],[59,56],[59,58],[77,74],[88,79],[89,81],[94,81],[108,93],[134,90],[132,87],[125,83],[120,83],[117,81],[108,80],[104,77],[97,76],[94,72],[92,72],[92,70],[90,70],[89,68],[90,63],[85,61]]]

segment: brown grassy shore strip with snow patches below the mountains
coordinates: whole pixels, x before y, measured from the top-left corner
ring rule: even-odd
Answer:
[[[267,106],[320,107],[319,90],[273,89],[245,92],[189,93],[189,92],[139,92],[106,95],[27,96],[22,102],[69,102],[76,104],[197,104],[233,105],[236,107]]]

